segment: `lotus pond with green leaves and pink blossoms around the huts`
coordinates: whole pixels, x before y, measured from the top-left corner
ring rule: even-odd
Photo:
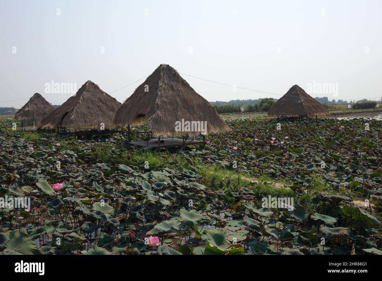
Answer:
[[[0,254],[382,253],[380,120],[226,120],[160,154],[0,121]]]

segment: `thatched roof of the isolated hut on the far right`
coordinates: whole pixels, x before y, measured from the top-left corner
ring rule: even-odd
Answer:
[[[293,115],[299,117],[327,116],[329,111],[300,86],[294,85],[268,111],[268,116]]]

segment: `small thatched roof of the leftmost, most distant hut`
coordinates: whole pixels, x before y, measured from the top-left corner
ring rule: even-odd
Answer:
[[[16,112],[15,119],[21,119],[21,127],[34,127],[53,110],[54,107],[36,93]]]

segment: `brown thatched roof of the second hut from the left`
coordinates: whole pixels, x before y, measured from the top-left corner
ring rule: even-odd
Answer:
[[[112,128],[114,114],[120,106],[120,102],[89,80],[74,96],[41,120],[40,128],[84,130],[100,128],[101,123],[105,128]]]

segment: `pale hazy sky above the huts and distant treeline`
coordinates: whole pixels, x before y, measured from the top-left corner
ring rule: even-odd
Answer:
[[[0,107],[21,107],[36,92],[65,102],[70,93],[45,93],[51,81],[78,89],[91,80],[109,93],[161,63],[275,94],[333,83],[311,95],[382,96],[380,0],[0,3]],[[182,77],[208,101],[280,97]],[[123,102],[143,81],[111,95]],[[24,100],[4,102],[15,99]]]

